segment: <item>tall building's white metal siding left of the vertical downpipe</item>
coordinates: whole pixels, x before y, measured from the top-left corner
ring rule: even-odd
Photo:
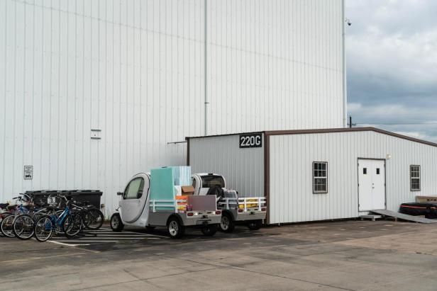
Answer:
[[[109,215],[133,174],[184,165],[167,142],[204,131],[202,5],[0,1],[0,201],[97,188]]]

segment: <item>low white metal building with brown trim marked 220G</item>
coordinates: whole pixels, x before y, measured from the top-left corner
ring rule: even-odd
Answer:
[[[397,212],[416,195],[437,194],[437,144],[373,127],[188,141],[193,171],[220,173],[241,195],[265,195],[270,224]]]

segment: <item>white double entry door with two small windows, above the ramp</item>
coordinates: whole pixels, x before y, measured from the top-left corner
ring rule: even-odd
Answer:
[[[385,161],[358,160],[360,211],[385,209]]]

